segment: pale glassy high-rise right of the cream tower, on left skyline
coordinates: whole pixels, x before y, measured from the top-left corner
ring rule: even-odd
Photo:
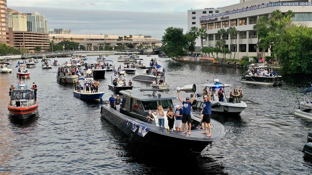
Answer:
[[[38,12],[26,14],[28,32],[48,33],[48,21],[44,15],[40,15]]]

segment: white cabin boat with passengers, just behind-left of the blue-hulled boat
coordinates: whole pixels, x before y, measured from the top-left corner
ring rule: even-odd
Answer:
[[[56,81],[59,83],[73,84],[78,81],[78,78],[79,68],[77,67],[77,65],[68,63],[66,61],[57,69]]]

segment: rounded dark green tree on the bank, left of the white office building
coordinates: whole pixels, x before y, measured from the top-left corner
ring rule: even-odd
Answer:
[[[182,28],[168,27],[162,36],[163,52],[168,57],[187,55],[188,37],[183,34]]]

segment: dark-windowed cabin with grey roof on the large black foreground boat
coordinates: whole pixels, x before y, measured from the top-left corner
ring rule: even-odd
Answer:
[[[120,106],[120,113],[133,118],[139,119],[143,122],[147,122],[149,110],[156,112],[157,106],[161,105],[165,114],[169,106],[173,106],[173,99],[176,97],[158,92],[158,91],[140,91],[140,90],[121,90],[123,94],[122,104]],[[153,124],[158,126],[158,120],[154,116],[155,120]],[[167,117],[165,117],[165,126],[168,125]]]

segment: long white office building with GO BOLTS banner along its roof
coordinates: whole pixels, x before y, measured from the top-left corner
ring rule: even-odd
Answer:
[[[220,29],[227,30],[235,27],[239,32],[236,36],[222,36],[226,41],[225,47],[236,52],[236,59],[242,56],[261,56],[257,47],[258,36],[254,25],[260,16],[269,16],[274,10],[282,13],[292,10],[295,17],[293,23],[306,25],[312,28],[312,2],[311,0],[240,0],[240,3],[221,8],[207,8],[202,10],[188,10],[188,30],[196,26],[207,30],[208,38],[204,46],[215,47],[221,36],[217,33]],[[236,40],[236,43],[235,43]],[[200,39],[196,45],[200,46]],[[237,49],[236,49],[237,47]],[[265,55],[270,55],[270,50],[265,50]]]

